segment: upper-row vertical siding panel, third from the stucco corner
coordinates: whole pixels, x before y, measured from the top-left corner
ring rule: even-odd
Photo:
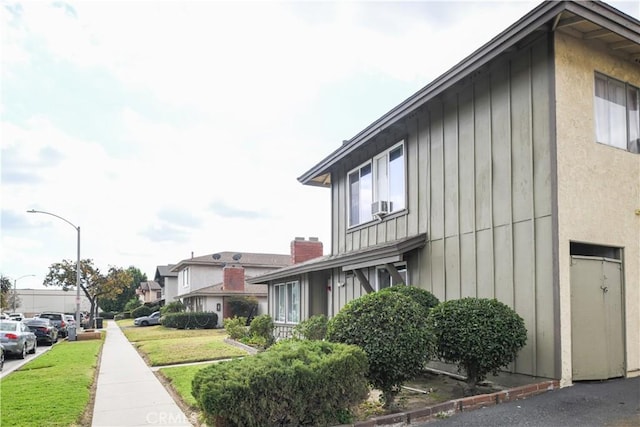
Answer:
[[[493,141],[493,225],[508,224],[511,219],[511,147],[509,132],[509,93],[506,68],[491,75],[491,130]]]

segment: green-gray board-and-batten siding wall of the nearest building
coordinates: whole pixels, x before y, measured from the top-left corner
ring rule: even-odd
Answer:
[[[409,258],[409,282],[441,300],[495,297],[513,307],[528,329],[516,371],[554,378],[551,70],[541,36],[382,130],[339,165],[332,174],[332,253],[426,232],[427,245]],[[399,140],[408,213],[348,230],[349,170]],[[357,279],[348,280],[355,289],[335,290],[334,312],[362,293]]]

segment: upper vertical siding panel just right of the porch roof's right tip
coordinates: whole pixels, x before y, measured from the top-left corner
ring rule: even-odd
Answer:
[[[444,176],[443,161],[444,150],[442,146],[442,113],[441,107],[436,103],[431,110],[431,219],[429,227],[431,229],[432,239],[441,239],[444,237]]]

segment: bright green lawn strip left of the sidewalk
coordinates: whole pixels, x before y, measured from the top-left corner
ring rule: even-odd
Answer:
[[[82,417],[90,403],[103,342],[60,342],[0,380],[0,425],[86,424]]]

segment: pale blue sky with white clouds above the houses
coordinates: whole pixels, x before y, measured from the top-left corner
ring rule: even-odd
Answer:
[[[0,272],[330,249],[296,178],[537,1],[2,3]],[[640,2],[610,2],[635,16]]]

